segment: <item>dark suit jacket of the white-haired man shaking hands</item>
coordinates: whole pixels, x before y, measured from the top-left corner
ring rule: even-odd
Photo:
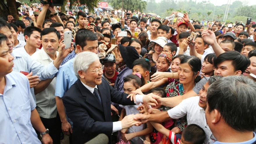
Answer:
[[[66,114],[73,122],[72,141],[74,144],[83,144],[98,134],[109,137],[113,131],[111,122],[111,102],[122,105],[134,105],[126,97],[128,94],[118,92],[102,78],[102,83],[97,86],[102,106],[95,97],[78,79],[63,97]],[[111,143],[111,142],[109,142]]]

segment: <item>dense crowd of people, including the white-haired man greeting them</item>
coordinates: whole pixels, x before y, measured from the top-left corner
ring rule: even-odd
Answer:
[[[22,8],[0,19],[0,143],[256,144],[255,22]]]

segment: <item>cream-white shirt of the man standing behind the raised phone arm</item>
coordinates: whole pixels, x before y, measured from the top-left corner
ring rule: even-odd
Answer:
[[[56,51],[56,56],[58,56],[59,52]],[[50,56],[44,51],[44,49],[40,49],[36,51],[31,58],[38,61],[44,66],[48,66],[53,60]],[[42,118],[56,118],[57,115],[57,107],[55,100],[55,86],[56,86],[56,77],[51,81],[49,86],[43,90],[42,92],[35,95],[36,99],[36,109]]]

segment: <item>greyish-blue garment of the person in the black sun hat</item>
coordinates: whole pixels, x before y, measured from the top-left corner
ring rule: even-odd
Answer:
[[[124,77],[128,76],[129,74],[132,74],[132,70],[127,66],[125,69],[123,69],[121,72],[117,74],[117,77],[115,79],[115,88],[116,90],[120,92],[124,92]]]

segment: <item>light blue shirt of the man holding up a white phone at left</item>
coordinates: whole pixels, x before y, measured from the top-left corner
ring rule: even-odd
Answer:
[[[58,69],[54,66],[53,62],[51,62],[48,66],[44,66],[32,59],[29,54],[22,51],[13,51],[11,55],[14,57],[14,72],[33,72],[33,75],[39,76],[39,79],[41,80],[51,79],[58,72]],[[35,100],[34,89],[31,88],[30,90]]]

